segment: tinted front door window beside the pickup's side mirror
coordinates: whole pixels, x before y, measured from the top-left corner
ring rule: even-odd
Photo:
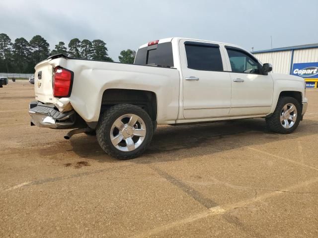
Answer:
[[[241,51],[227,49],[232,72],[259,73],[258,61]]]

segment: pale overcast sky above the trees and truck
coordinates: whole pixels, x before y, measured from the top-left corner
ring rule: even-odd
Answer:
[[[251,51],[318,43],[318,0],[0,0],[0,33],[72,38],[123,49],[166,37],[233,43]]]

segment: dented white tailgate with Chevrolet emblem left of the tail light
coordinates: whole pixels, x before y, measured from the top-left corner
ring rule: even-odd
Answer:
[[[44,60],[35,66],[35,99],[42,103],[53,103],[53,66]]]

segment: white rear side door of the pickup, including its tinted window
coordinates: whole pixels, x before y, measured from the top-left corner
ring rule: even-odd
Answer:
[[[231,78],[224,72],[219,44],[180,40],[185,119],[220,118],[229,115]]]

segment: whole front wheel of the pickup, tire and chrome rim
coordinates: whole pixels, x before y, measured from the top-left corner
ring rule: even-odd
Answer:
[[[295,98],[281,97],[272,116],[266,118],[267,127],[282,134],[292,133],[300,122],[301,113],[300,103]]]

